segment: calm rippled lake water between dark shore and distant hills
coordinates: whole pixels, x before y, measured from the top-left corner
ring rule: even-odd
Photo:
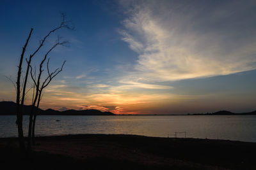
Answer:
[[[25,134],[27,129],[28,117],[24,117]],[[36,124],[37,136],[89,133],[173,137],[182,131],[187,138],[256,142],[256,116],[38,116]],[[17,136],[15,116],[0,116],[0,137],[11,136]]]

